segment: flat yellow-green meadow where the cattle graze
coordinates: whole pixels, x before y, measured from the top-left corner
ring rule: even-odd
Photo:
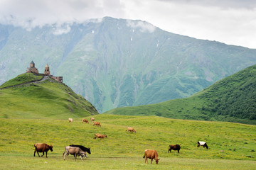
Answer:
[[[0,166],[4,169],[255,169],[256,127],[238,123],[175,120],[157,116],[93,115],[102,124],[82,123],[81,118],[0,119]],[[85,117],[88,120],[90,117]],[[137,133],[127,132],[133,127]],[[93,139],[95,133],[107,135]],[[197,141],[209,149],[196,147]],[[33,157],[33,145],[46,142],[53,152]],[[81,162],[73,156],[63,161],[65,146],[90,147]],[[181,144],[180,154],[168,153],[169,145]],[[145,164],[144,149],[156,149],[159,164]]]

